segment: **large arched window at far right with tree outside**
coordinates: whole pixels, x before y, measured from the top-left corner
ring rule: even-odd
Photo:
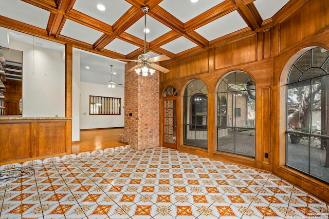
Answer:
[[[329,52],[302,54],[287,78],[286,165],[329,182]]]

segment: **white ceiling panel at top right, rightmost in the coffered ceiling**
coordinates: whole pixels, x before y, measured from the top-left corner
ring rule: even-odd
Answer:
[[[254,1],[253,4],[257,8],[263,20],[266,20],[275,15],[288,2],[289,0],[257,0]]]

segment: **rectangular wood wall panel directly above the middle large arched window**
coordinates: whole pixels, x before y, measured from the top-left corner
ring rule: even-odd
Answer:
[[[215,69],[257,60],[257,35],[215,48]]]

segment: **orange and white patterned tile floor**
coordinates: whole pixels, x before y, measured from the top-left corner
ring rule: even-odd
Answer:
[[[168,148],[47,162],[0,185],[1,219],[328,218],[328,205],[271,173]]]

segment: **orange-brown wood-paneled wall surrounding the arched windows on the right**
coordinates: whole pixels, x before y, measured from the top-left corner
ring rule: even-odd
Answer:
[[[208,150],[186,146],[182,136],[177,136],[178,150],[272,171],[322,200],[329,200],[328,184],[285,167],[287,73],[304,48],[321,46],[329,50],[327,8],[327,0],[308,1],[296,13],[284,18],[279,15],[280,21],[273,21],[272,26],[257,33],[246,32],[224,38],[207,52],[184,54],[173,61],[162,62],[161,65],[171,71],[162,74],[160,98],[161,91],[168,86],[177,89],[181,106],[177,115],[179,133],[183,133],[182,97],[185,86],[191,79],[199,78],[208,87]],[[226,74],[235,70],[247,72],[256,84],[255,158],[215,150],[216,88]],[[268,153],[268,158],[264,153]]]

